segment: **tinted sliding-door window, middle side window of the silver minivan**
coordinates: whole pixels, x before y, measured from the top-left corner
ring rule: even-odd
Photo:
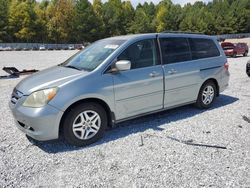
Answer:
[[[186,38],[162,38],[160,43],[164,64],[191,60]]]

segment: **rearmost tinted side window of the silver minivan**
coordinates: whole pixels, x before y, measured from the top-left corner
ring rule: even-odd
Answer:
[[[211,39],[189,39],[189,44],[192,52],[192,59],[202,59],[216,57],[220,52]]]

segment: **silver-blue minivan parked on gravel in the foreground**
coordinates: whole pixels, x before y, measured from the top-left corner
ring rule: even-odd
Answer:
[[[17,127],[40,140],[97,141],[118,122],[195,103],[209,108],[228,86],[215,37],[155,33],[99,40],[64,63],[23,79],[10,108]]]

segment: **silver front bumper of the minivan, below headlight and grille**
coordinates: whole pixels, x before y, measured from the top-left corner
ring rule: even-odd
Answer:
[[[54,140],[59,137],[59,125],[63,112],[49,104],[42,108],[29,108],[21,102],[9,107],[18,129],[39,141]]]

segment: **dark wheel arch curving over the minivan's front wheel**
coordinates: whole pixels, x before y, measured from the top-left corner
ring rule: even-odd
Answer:
[[[59,135],[61,135],[62,133],[62,129],[63,129],[63,121],[66,117],[66,114],[73,109],[75,106],[82,104],[82,103],[87,103],[87,102],[93,102],[93,103],[97,103],[99,105],[101,105],[104,110],[106,111],[107,114],[107,118],[108,118],[108,127],[111,128],[114,125],[115,122],[115,115],[114,112],[111,111],[109,105],[103,101],[102,99],[99,98],[86,98],[86,99],[80,99],[78,101],[75,101],[74,103],[72,103],[70,106],[68,106],[66,108],[66,110],[64,111],[61,119],[60,119],[60,123],[59,123]]]

